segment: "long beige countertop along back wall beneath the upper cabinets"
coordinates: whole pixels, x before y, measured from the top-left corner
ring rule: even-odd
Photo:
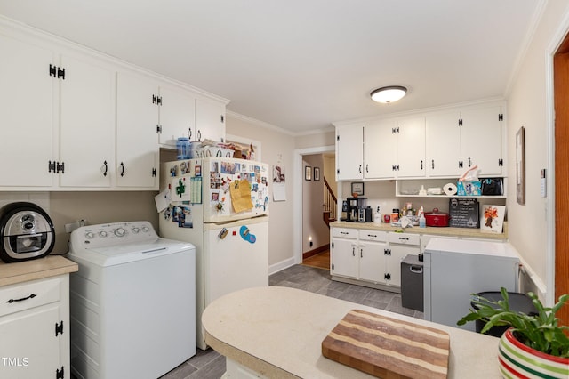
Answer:
[[[366,229],[366,230],[384,230],[384,231],[405,231],[405,233],[413,234],[429,234],[434,236],[454,236],[466,238],[485,238],[485,239],[508,239],[508,222],[504,222],[504,231],[502,233],[485,233],[475,228],[449,228],[449,227],[427,227],[405,228],[391,226],[388,223],[375,222],[330,222],[333,228],[350,228],[350,229]]]

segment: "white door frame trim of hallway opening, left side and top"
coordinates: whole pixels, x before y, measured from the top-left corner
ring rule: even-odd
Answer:
[[[294,264],[302,262],[302,181],[304,179],[304,167],[302,166],[302,156],[310,156],[314,154],[324,154],[336,152],[335,145],[318,146],[314,148],[295,149],[294,150],[294,177],[293,177],[293,246],[294,246]]]

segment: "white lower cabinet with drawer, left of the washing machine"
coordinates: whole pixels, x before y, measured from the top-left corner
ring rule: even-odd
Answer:
[[[0,287],[0,373],[68,378],[68,274]]]

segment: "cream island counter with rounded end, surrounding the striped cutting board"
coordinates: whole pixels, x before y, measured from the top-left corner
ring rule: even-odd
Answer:
[[[435,327],[450,335],[449,378],[499,378],[499,339],[279,286],[248,288],[212,302],[205,342],[227,357],[230,377],[371,378],[322,355],[326,335],[349,310]]]

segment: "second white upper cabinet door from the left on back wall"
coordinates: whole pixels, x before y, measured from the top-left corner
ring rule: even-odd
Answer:
[[[366,179],[395,176],[397,164],[397,121],[381,120],[365,125],[364,162]]]

